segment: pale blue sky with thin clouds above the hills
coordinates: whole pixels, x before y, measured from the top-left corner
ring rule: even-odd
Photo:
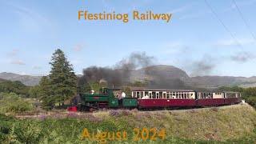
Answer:
[[[145,51],[155,64],[194,75],[256,75],[256,0],[44,0],[0,2],[0,72],[45,75],[51,55],[62,49],[77,74],[88,66],[114,66]],[[129,22],[78,21],[78,10],[129,13]],[[133,21],[132,12],[172,13],[170,22]],[[201,71],[197,66],[210,66]]]

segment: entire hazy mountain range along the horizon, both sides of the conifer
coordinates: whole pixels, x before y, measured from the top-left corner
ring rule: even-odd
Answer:
[[[81,74],[77,75],[81,77]],[[0,82],[20,81],[27,86],[38,85],[42,76],[0,73]],[[157,65],[134,70],[130,82],[148,82],[150,87],[164,89],[214,89],[220,86],[256,86],[256,77],[202,76],[189,77],[185,71],[174,66]]]

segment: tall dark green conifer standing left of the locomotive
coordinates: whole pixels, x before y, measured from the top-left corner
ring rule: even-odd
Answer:
[[[76,75],[73,66],[67,61],[64,52],[60,49],[55,50],[51,62],[50,90],[53,102],[64,103],[71,98],[76,90]]]

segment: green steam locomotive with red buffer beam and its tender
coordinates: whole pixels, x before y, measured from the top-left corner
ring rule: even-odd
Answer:
[[[104,109],[114,109],[114,108],[135,108],[138,107],[137,98],[118,98],[114,97],[114,90],[119,89],[109,89],[102,88],[99,90],[98,94],[80,93],[78,88],[78,94],[72,98],[71,105],[68,111],[93,111],[93,110],[104,110]]]

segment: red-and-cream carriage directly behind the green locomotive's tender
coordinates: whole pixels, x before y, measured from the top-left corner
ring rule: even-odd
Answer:
[[[132,97],[138,98],[139,107],[195,106],[194,90],[132,90]]]

